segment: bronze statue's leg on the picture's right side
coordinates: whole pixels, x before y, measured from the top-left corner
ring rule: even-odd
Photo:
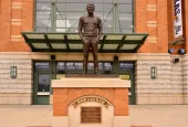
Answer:
[[[94,71],[95,74],[98,74],[98,60],[97,60],[97,42],[96,39],[92,40],[92,53],[93,53],[93,61],[94,61]]]

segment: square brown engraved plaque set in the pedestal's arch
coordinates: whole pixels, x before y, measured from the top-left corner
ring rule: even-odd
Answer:
[[[101,107],[81,107],[81,123],[101,123]]]

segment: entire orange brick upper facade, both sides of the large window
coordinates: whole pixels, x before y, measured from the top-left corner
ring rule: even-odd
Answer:
[[[135,0],[136,32],[149,33],[139,53],[168,52],[168,42],[173,40],[174,33],[171,3],[173,0]],[[188,3],[185,2],[184,7],[185,24],[188,24]],[[33,12],[34,0],[1,0],[1,52],[30,52],[20,32],[33,30]],[[187,29],[186,25],[185,30]]]

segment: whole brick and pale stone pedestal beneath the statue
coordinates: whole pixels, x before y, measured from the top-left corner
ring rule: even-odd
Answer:
[[[52,87],[52,127],[130,127],[129,81],[66,76],[53,80]]]

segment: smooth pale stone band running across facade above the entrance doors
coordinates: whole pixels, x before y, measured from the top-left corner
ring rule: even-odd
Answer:
[[[40,60],[48,61],[50,55],[56,55],[56,61],[83,61],[82,53],[35,53],[35,52],[1,52],[0,59],[4,60]],[[114,55],[119,57],[119,61],[137,61],[137,60],[158,60],[158,61],[170,61],[170,54],[168,53],[98,53],[98,60],[113,61]],[[93,60],[92,55],[88,57]]]

